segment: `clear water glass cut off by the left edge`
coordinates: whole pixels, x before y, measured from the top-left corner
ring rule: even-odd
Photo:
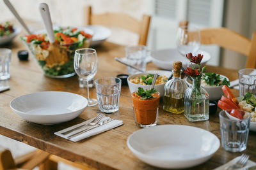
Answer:
[[[0,48],[0,80],[10,78],[10,63],[12,50]]]

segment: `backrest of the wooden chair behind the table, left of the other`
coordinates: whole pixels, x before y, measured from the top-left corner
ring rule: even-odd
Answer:
[[[150,16],[143,15],[142,20],[137,20],[125,13],[103,13],[93,15],[92,6],[86,6],[84,10],[86,16],[85,24],[115,26],[135,32],[139,35],[138,45],[147,45]]]

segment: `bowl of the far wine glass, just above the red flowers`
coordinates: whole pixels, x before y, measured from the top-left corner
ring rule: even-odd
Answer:
[[[195,27],[181,26],[177,30],[176,45],[182,56],[195,53],[200,48],[200,31]]]

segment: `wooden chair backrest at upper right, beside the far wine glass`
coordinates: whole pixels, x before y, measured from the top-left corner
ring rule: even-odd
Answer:
[[[188,25],[182,22],[179,25]],[[215,44],[242,53],[247,56],[246,68],[256,68],[256,31],[253,32],[252,39],[224,27],[200,29],[200,36],[201,44]]]

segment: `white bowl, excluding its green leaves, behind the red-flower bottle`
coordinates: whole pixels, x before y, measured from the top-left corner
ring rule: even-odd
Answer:
[[[220,76],[223,77],[223,78],[227,78],[226,76],[223,76],[221,74],[220,74]],[[228,78],[227,78],[227,80],[228,80]],[[186,81],[186,83],[188,83],[189,86],[192,85],[192,81],[189,80],[188,77],[185,78],[185,81]],[[204,87],[204,89],[209,94],[210,101],[216,101],[216,100],[220,99],[221,96],[224,95],[221,87],[223,87],[223,85],[216,86],[216,87]]]

